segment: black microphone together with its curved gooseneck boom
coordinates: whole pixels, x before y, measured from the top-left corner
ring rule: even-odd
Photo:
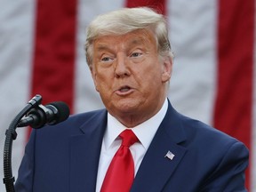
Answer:
[[[44,124],[58,124],[69,116],[68,105],[62,101],[41,105],[42,96],[36,94],[20,113],[15,116],[5,132],[4,141],[4,185],[6,192],[15,192],[14,177],[12,176],[12,141],[16,140],[17,126],[32,126],[41,128]]]

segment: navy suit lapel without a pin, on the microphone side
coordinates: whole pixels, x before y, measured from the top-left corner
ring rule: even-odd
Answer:
[[[69,191],[95,191],[106,114],[105,111],[100,117],[92,117],[80,127],[81,134],[70,139]]]

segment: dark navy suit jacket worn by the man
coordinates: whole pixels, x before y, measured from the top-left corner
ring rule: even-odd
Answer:
[[[31,133],[16,192],[95,191],[106,109],[70,116]],[[173,159],[164,157],[170,151]],[[132,192],[246,191],[244,144],[169,103],[132,185]],[[122,177],[122,175],[120,175]]]

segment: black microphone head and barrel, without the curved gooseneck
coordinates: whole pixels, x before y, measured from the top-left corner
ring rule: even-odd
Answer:
[[[69,116],[69,108],[65,102],[55,101],[48,105],[38,105],[28,111],[27,116],[23,117],[18,127],[28,126],[38,129],[45,124],[58,124],[65,121]]]

